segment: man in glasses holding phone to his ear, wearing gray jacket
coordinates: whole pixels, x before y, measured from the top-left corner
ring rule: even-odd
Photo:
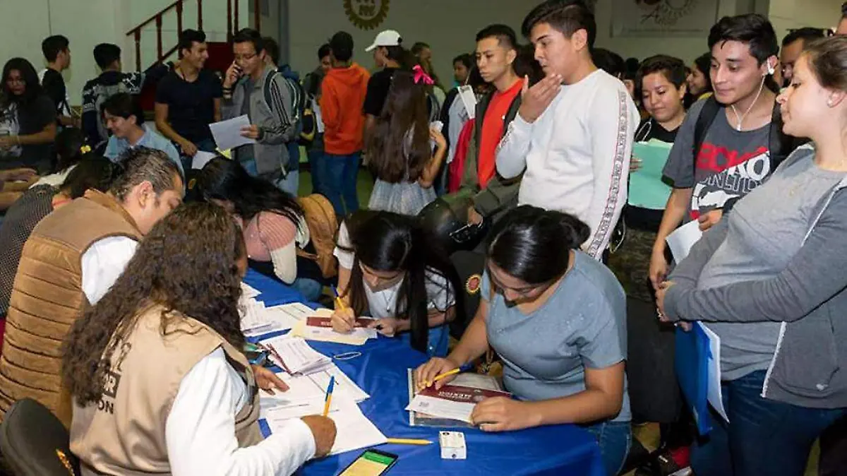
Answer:
[[[250,125],[241,130],[241,136],[256,141],[237,147],[235,159],[247,173],[269,180],[283,190],[288,173],[285,144],[298,134],[291,87],[265,61],[267,53],[257,30],[239,31],[232,40],[232,48],[235,61],[224,75],[222,115],[224,119],[233,119],[246,114]]]

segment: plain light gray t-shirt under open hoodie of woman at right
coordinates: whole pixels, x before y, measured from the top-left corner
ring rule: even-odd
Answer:
[[[812,158],[786,163],[728,215],[728,233],[703,268],[697,289],[776,277],[800,249],[812,213],[844,172],[817,168]],[[722,379],[739,379],[770,365],[778,322],[709,323],[721,338]]]

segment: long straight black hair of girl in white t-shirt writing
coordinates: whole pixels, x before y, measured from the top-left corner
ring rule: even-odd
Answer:
[[[444,257],[433,252],[418,219],[390,212],[360,211],[346,220],[351,248],[355,253],[346,294],[357,315],[368,312],[360,263],[376,271],[405,271],[394,315],[409,319],[412,327],[412,348],[426,351],[429,341],[429,296],[426,286],[439,276],[446,283],[446,292],[455,299],[458,289],[456,270]],[[429,275],[428,275],[429,274]],[[456,306],[460,309],[461,306]],[[446,313],[446,309],[438,309]]]

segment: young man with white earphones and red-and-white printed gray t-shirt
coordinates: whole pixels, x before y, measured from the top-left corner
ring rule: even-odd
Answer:
[[[779,128],[773,25],[760,14],[723,17],[708,42],[715,94],[689,109],[663,170],[673,191],[650,259],[654,288],[668,271],[667,235],[691,220],[717,224],[794,147]]]

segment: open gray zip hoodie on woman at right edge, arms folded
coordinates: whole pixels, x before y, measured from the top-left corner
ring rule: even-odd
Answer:
[[[798,148],[773,176],[788,174],[794,164],[812,160],[814,154],[811,144]],[[761,192],[772,194],[773,201],[784,200],[792,193],[767,185],[761,185]],[[799,248],[794,248],[778,274],[698,289],[704,268],[727,240],[730,220],[722,219],[692,247],[670,277],[675,285],[667,290],[664,304],[665,313],[672,320],[779,323],[776,348],[761,391],[763,397],[800,407],[847,407],[845,188],[847,174],[813,205]],[[788,223],[778,219],[773,222],[777,228]],[[778,237],[781,230],[759,231]],[[754,258],[759,257],[739,257],[741,263]]]

